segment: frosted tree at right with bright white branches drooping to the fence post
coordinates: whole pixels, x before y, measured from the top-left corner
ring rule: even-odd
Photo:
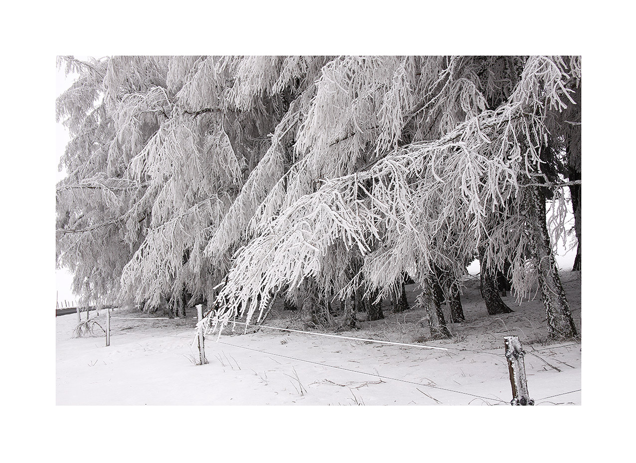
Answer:
[[[518,294],[538,281],[552,335],[576,335],[545,218],[544,190],[558,203],[562,185],[543,166],[580,77],[576,57],[331,60],[296,135],[294,175],[252,217],[212,321],[307,278],[345,298],[363,281],[387,292],[406,271],[431,294],[434,265],[459,280],[484,246],[487,265],[512,264]],[[364,264],[342,285],[352,254]],[[435,298],[422,299],[444,335]]]

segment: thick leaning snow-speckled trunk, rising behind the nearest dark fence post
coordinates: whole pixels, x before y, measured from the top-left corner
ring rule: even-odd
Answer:
[[[528,221],[532,241],[532,259],[537,271],[539,289],[548,318],[548,334],[552,338],[577,335],[572,312],[565,298],[546,226],[546,201],[539,187],[527,189]]]

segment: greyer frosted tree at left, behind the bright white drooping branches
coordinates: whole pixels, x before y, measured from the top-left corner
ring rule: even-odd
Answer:
[[[233,249],[211,260],[205,246],[325,60],[60,58],[79,74],[57,100],[71,133],[62,159],[71,173],[58,185],[58,265],[74,271],[76,290],[147,309],[211,295]]]

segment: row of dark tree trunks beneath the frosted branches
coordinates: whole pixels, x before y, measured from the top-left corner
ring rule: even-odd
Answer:
[[[576,186],[576,185],[575,185]],[[529,236],[531,241],[530,256],[534,262],[539,281],[539,289],[546,309],[548,319],[548,332],[551,337],[571,338],[577,335],[576,326],[572,320],[572,314],[565,298],[565,292],[560,282],[555,258],[551,249],[550,236],[546,226],[546,203],[541,187],[530,187],[526,189],[527,217],[529,224]],[[577,238],[579,238],[579,248],[574,269],[580,269],[581,248],[580,248],[580,187],[572,191],[572,206],[577,212]],[[480,260],[480,290],[481,296],[486,305],[489,315],[508,314],[513,312],[501,299],[501,295],[511,291],[511,265],[506,262],[503,271],[493,269],[493,265],[487,262],[485,246],[479,249]],[[404,274],[403,279],[397,285],[396,292],[391,298],[393,313],[404,312],[409,309],[406,299],[405,284],[409,283],[408,275]],[[423,281],[422,295],[420,302],[425,308],[433,339],[450,337],[450,323],[461,323],[465,320],[460,289],[457,281],[450,272],[446,272],[439,267],[434,268]],[[187,305],[187,292],[184,291],[180,298],[166,301],[165,306],[170,311],[170,316],[185,316]],[[289,300],[285,300],[285,309],[296,310],[296,306]],[[448,305],[450,320],[446,319],[443,305]],[[365,292],[364,288],[359,288],[349,299],[341,302],[340,307],[334,307],[329,298],[320,295],[317,288],[308,290],[307,297],[303,300],[301,311],[310,325],[324,329],[355,328],[357,317],[356,312],[366,312],[368,320],[375,321],[384,319],[382,310],[382,298],[379,292]]]

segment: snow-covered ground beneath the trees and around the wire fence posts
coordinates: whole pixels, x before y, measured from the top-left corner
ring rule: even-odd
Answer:
[[[570,307],[581,327],[580,272],[563,272]],[[417,285],[407,286],[414,305]],[[192,346],[196,313],[185,319],[111,321],[111,346],[104,333],[72,339],[76,315],[56,319],[58,405],[508,405],[512,398],[504,358],[506,335],[525,349],[528,388],[537,405],[581,404],[581,344],[544,344],[546,321],[536,300],[514,304],[512,314],[488,316],[476,279],[462,302],[466,321],[455,337],[425,340],[424,314],[413,308],[362,321],[347,337],[389,340],[414,346],[323,337],[263,328],[209,336],[209,363],[197,366]],[[294,326],[293,314],[275,312],[267,325]],[[106,326],[105,313],[96,316]],[[139,317],[117,311],[114,316]],[[291,317],[291,318],[290,318]],[[364,318],[364,314],[360,314]],[[97,332],[100,333],[97,333]],[[569,344],[569,345],[567,345]],[[427,349],[424,346],[448,350]],[[572,392],[577,391],[577,392]],[[559,395],[563,394],[563,395]]]

